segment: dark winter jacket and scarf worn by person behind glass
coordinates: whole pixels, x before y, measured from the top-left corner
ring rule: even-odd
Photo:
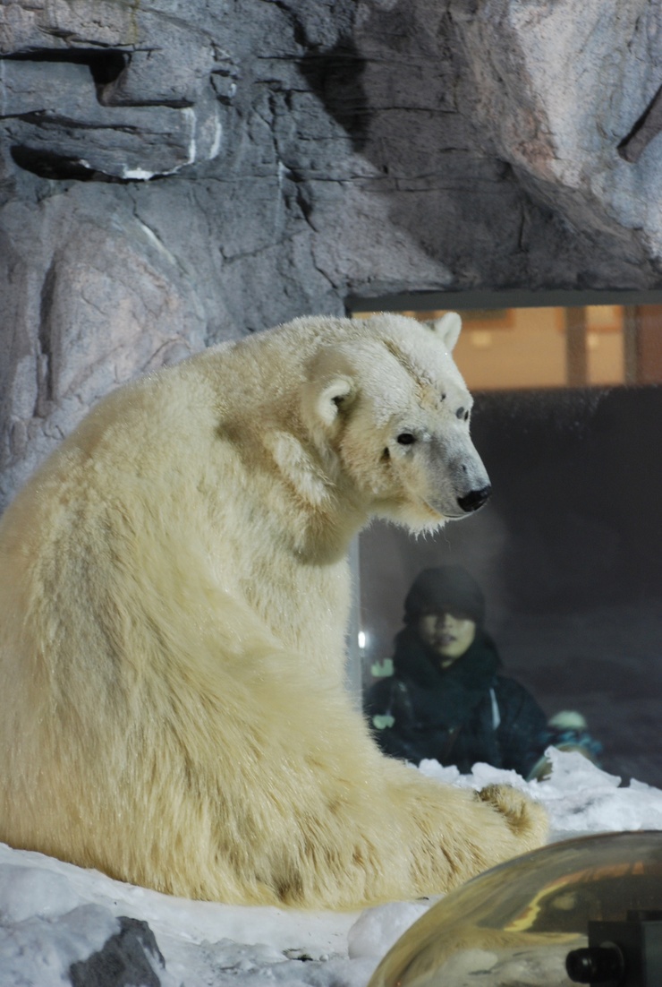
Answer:
[[[393,675],[364,700],[383,752],[415,764],[454,764],[463,774],[483,761],[526,778],[545,749],[546,717],[523,686],[498,673],[492,639],[477,628],[474,643],[447,669],[413,626],[395,641]]]

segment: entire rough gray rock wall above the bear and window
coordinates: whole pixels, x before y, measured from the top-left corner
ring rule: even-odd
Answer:
[[[646,0],[0,4],[0,506],[116,382],[349,295],[662,281]]]

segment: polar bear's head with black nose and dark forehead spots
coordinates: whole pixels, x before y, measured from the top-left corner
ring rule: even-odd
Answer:
[[[306,415],[315,444],[371,515],[434,529],[491,493],[471,441],[472,398],[451,352],[461,321],[397,315],[357,320],[309,369]]]

